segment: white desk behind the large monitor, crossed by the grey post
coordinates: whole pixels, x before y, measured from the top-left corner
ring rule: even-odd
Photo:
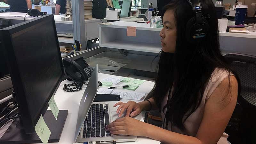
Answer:
[[[24,21],[24,17],[27,13],[22,12],[4,12],[0,13],[0,19],[10,19],[13,20],[12,24],[17,24]],[[32,20],[29,18],[25,18],[25,20]],[[56,23],[56,29],[58,33],[73,33],[72,21],[63,21],[61,20],[61,15],[54,15],[54,20]],[[104,22],[104,20],[103,20]],[[85,28],[87,33],[87,40],[92,40],[99,37],[99,27],[98,25],[101,23],[100,19],[91,19],[85,20]],[[59,42],[70,43],[73,44],[73,38],[65,38],[59,37]]]

